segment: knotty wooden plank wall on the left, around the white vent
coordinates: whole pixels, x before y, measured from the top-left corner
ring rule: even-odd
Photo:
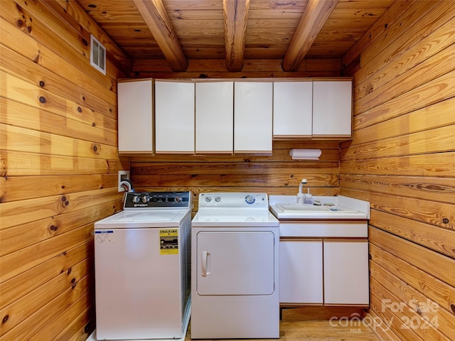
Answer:
[[[86,340],[93,224],[122,208],[129,169],[115,86],[128,60],[75,4],[0,6],[0,339]],[[109,46],[107,75],[90,66],[89,27]]]

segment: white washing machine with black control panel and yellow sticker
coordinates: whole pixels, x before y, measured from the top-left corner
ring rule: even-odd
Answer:
[[[128,193],[95,222],[97,340],[184,338],[190,314],[191,193]]]

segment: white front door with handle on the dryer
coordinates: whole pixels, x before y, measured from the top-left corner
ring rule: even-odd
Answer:
[[[269,231],[199,232],[199,295],[272,295],[274,234]]]

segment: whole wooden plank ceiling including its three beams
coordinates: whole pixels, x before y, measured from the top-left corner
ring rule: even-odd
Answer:
[[[395,0],[77,0],[131,58],[282,60],[295,71],[304,59],[342,58]]]

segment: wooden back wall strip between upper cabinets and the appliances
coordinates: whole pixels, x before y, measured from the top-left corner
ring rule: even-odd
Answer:
[[[319,161],[292,160],[291,148],[321,148]],[[272,156],[169,155],[131,158],[136,190],[191,190],[193,212],[201,192],[296,195],[302,178],[314,195],[338,194],[339,143],[274,141]]]

